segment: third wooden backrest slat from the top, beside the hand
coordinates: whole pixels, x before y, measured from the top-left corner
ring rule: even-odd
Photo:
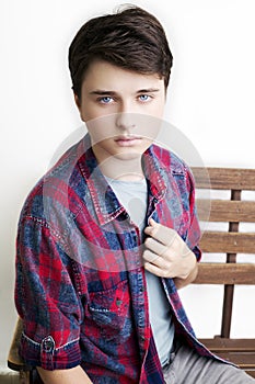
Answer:
[[[255,253],[255,233],[205,231],[200,239],[202,252]]]

